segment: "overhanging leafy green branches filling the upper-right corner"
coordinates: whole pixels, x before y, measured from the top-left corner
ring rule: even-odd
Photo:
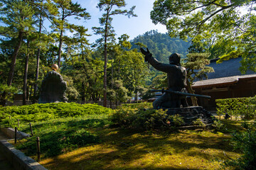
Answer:
[[[159,0],[151,11],[153,23],[165,25],[171,37],[191,38],[194,47],[220,61],[241,55],[243,73],[255,71],[255,18],[253,0]]]

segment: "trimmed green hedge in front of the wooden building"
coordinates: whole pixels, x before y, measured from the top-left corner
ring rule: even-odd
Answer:
[[[225,98],[215,100],[217,104],[217,114],[241,116],[241,118],[256,118],[256,96],[251,98]]]

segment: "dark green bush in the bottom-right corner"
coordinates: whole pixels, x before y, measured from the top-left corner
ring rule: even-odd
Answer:
[[[223,162],[222,168],[228,166],[233,169],[256,169],[256,124],[245,125],[245,132],[234,132],[232,145],[234,149],[239,149],[242,156],[238,159],[231,159]]]

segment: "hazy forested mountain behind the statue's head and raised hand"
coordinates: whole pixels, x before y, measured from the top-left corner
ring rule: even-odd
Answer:
[[[176,52],[181,54],[181,57],[186,57],[188,54],[188,47],[191,45],[189,42],[180,40],[178,38],[171,38],[167,33],[158,33],[157,30],[150,30],[143,35],[139,35],[130,41],[132,49],[139,49],[137,42],[141,42],[149,48],[149,51],[160,62],[168,63],[168,57]]]

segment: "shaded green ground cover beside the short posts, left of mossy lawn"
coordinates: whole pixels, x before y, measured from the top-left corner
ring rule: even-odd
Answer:
[[[44,157],[53,157],[69,152],[78,147],[99,143],[100,138],[89,132],[88,128],[100,128],[110,124],[108,115],[87,115],[82,118],[59,118],[33,123],[33,137],[25,143],[18,144],[18,149],[26,149],[28,156],[36,149],[36,136],[41,140],[41,153]],[[29,126],[23,127],[29,133]]]

